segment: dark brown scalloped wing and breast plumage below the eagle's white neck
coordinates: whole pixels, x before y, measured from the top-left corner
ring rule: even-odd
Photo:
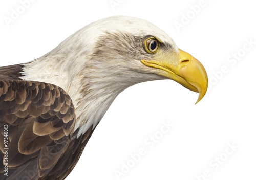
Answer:
[[[0,179],[64,179],[93,131],[77,138],[74,125],[74,106],[60,87],[0,80]]]

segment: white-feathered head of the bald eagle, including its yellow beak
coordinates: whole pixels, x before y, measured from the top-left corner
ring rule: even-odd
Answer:
[[[96,21],[84,30],[84,35],[90,34],[94,42],[90,44],[89,63],[104,64],[109,80],[120,88],[144,81],[172,79],[198,92],[196,103],[204,97],[208,78],[203,65],[150,22],[115,16]]]

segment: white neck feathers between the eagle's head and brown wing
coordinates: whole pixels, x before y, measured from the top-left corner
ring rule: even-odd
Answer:
[[[97,67],[81,70],[78,67],[81,65],[75,61],[72,63],[68,58],[42,57],[23,65],[24,76],[20,77],[23,80],[52,83],[70,95],[76,109],[75,130],[80,128],[78,136],[92,125],[95,127],[116,96],[133,85],[123,83],[121,77],[108,77]]]

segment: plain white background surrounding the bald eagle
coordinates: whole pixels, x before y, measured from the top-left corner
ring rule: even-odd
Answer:
[[[205,0],[197,13],[193,1],[119,2],[109,0],[35,1],[9,24],[17,0],[0,3],[1,66],[40,57],[90,22],[114,15],[146,19],[163,29],[180,49],[204,65],[211,88],[197,105],[197,93],[171,80],[137,84],[114,101],[93,133],[77,166],[67,179],[118,179],[115,170],[130,154],[144,148],[129,172],[120,179],[255,179],[255,57],[256,44],[244,51],[247,40],[256,42],[255,5],[252,1]],[[188,16],[179,31],[175,23]],[[248,49],[250,46],[246,45]],[[245,52],[239,61],[227,58]],[[220,73],[223,66],[228,72]],[[217,73],[219,72],[219,73]],[[217,77],[217,75],[218,77]],[[153,148],[144,141],[159,134],[163,122],[174,127]],[[228,143],[239,148],[226,154]],[[230,150],[231,151],[231,150]],[[209,164],[222,156],[221,165]]]

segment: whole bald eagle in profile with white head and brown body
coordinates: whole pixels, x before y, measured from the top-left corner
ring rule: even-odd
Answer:
[[[125,16],[80,29],[46,55],[0,68],[0,179],[65,179],[111,103],[134,84],[172,79],[198,92],[202,64],[155,25]]]

